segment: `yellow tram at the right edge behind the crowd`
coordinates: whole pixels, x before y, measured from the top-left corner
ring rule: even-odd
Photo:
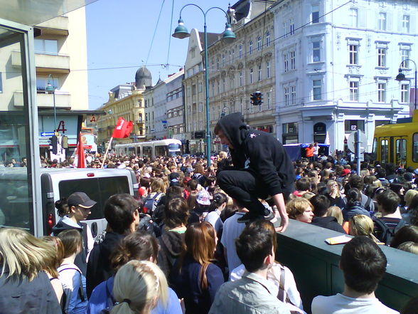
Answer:
[[[375,127],[373,157],[402,167],[418,168],[418,110],[412,118]]]

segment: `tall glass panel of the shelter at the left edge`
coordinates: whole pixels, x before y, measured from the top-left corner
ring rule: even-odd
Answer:
[[[0,26],[0,226],[33,233],[27,78],[20,66],[26,64],[24,47],[23,33]]]

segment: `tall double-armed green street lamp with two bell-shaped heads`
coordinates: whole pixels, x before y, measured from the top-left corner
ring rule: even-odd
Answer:
[[[203,11],[203,9],[200,8],[200,6],[198,6],[197,4],[186,4],[180,10],[180,19],[178,19],[178,26],[174,30],[174,33],[171,35],[175,38],[183,39],[186,37],[190,37],[190,33],[188,32],[186,26],[184,26],[184,21],[183,19],[181,19],[181,12],[183,11],[184,8],[186,8],[186,6],[195,6],[198,9],[200,9],[200,11],[202,11],[203,13],[203,19],[205,23],[203,26],[203,29],[204,29],[204,36],[205,36],[206,158],[208,159],[208,166],[210,166],[211,143],[210,143],[210,117],[209,117],[208,32],[206,29],[206,14],[208,14],[208,12],[212,9],[219,9],[220,11],[223,11],[227,19],[227,13],[223,9],[220,9],[220,7],[218,6],[213,6],[212,8],[209,8],[208,10]],[[223,32],[222,39],[226,43],[231,43],[232,41],[235,40],[235,33],[232,31],[229,23],[225,23],[225,31]]]

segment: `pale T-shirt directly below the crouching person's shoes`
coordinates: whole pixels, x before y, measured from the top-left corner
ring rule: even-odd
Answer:
[[[238,218],[244,216],[245,213],[236,212],[223,223],[223,232],[220,243],[227,249],[227,261],[230,272],[232,269],[240,266],[241,261],[238,258],[237,250],[235,249],[235,239],[240,236],[245,224],[237,221]]]

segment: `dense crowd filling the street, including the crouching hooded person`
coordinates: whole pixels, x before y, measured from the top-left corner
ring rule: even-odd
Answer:
[[[0,313],[399,313],[375,290],[382,246],[418,254],[418,169],[364,162],[356,174],[332,156],[292,164],[261,131],[220,123],[215,132],[232,159],[104,160],[132,169],[139,189],[107,199],[95,239],[83,221],[96,202],[84,192],[55,203],[50,236],[1,229]],[[291,264],[276,256],[288,218],[354,236],[341,253],[341,293],[302,303]]]

